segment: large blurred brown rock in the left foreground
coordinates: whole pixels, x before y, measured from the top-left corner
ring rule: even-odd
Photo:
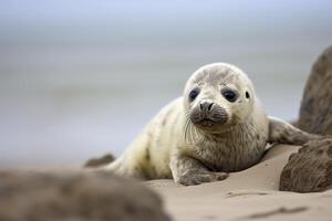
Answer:
[[[0,172],[2,221],[168,221],[160,198],[102,172]]]

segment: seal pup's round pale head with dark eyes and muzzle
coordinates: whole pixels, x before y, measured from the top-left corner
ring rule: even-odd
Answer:
[[[203,66],[185,87],[187,124],[205,133],[225,133],[248,119],[253,93],[251,81],[238,67],[226,63]]]

